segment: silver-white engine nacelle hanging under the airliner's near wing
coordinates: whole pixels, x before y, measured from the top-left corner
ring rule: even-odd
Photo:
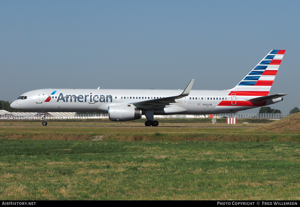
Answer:
[[[108,117],[111,121],[129,121],[142,118],[142,111],[129,106],[109,106]]]

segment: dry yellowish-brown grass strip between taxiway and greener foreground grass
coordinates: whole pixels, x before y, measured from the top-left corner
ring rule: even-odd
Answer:
[[[2,126],[0,139],[114,141],[272,141],[299,142],[299,132],[264,132],[221,127],[73,127]]]

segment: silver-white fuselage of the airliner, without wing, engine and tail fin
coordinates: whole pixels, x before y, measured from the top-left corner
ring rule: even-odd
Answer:
[[[26,99],[15,100],[11,107],[20,111],[108,113],[108,107],[112,105],[134,105],[137,102],[176,96],[180,93],[182,90],[41,89],[22,94]],[[233,97],[229,94],[228,90],[191,90],[188,96],[176,99],[164,108],[154,107],[154,114],[229,113],[274,103],[245,104],[249,96]],[[221,102],[226,104],[220,105]]]

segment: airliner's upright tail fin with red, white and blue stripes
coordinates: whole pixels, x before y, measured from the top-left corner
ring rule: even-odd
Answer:
[[[230,91],[268,95],[285,50],[272,50]]]

